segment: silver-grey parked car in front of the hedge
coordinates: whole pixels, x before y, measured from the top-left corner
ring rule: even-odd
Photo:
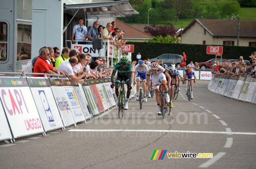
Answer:
[[[166,63],[168,66],[171,65],[172,61],[174,61],[174,63],[176,64],[175,67],[180,67],[180,62],[183,59],[183,56],[181,55],[177,55],[177,54],[163,54],[160,55],[156,58],[150,59],[150,62],[156,62],[156,60],[163,61],[164,63]]]

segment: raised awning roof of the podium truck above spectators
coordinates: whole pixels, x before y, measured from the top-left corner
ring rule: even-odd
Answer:
[[[77,13],[76,11],[79,10]],[[85,4],[64,4],[64,13],[77,18],[98,19],[125,17],[133,14],[139,14],[129,1],[112,1]]]

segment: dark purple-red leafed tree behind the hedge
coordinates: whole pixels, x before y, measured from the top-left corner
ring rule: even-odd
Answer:
[[[156,26],[155,24],[152,26],[145,26],[144,27],[145,32],[152,35],[152,36],[162,36],[166,37],[167,35],[170,35],[174,37],[176,35],[176,30],[173,27],[172,23],[168,23],[164,26]]]

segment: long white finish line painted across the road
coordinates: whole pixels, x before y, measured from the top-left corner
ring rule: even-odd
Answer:
[[[230,128],[226,128],[230,129]],[[68,131],[84,131],[84,132],[167,132],[167,133],[206,133],[206,134],[240,134],[240,135],[256,135],[256,133],[232,132],[230,131],[193,131],[193,130],[132,130],[132,129],[71,129]]]

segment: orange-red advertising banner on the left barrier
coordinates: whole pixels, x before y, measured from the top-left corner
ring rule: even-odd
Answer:
[[[97,86],[95,84],[95,81],[93,79],[88,79],[87,80],[89,83],[89,87],[91,89],[91,92],[93,93],[93,99],[96,103],[96,107],[98,108],[98,111],[101,113],[104,111],[104,106],[102,104],[101,98],[100,98],[100,93],[98,92]]]

